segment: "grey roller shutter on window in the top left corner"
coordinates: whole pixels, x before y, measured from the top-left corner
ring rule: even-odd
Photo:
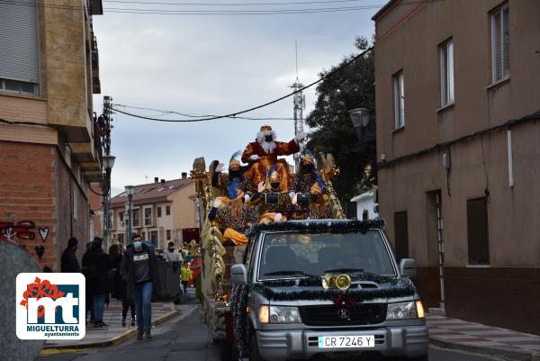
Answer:
[[[17,3],[0,2],[0,78],[37,84],[40,72],[36,2]]]

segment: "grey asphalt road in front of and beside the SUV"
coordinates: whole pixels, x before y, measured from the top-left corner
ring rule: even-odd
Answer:
[[[183,304],[194,304],[191,294]],[[182,306],[181,306],[182,307]],[[185,307],[185,306],[184,306]],[[71,354],[41,356],[37,361],[220,361],[219,347],[212,344],[206,326],[202,324],[197,307],[187,318],[168,321],[159,326],[151,340],[131,339],[111,348]],[[463,352],[430,347],[430,361],[488,361],[500,360]]]

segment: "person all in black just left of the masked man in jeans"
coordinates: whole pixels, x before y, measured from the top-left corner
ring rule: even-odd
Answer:
[[[90,251],[83,257],[83,267],[86,271],[86,293],[90,293],[94,300],[95,328],[107,326],[103,323],[103,309],[112,290],[111,277],[109,276],[111,266],[111,258],[103,252],[102,244],[94,240]]]

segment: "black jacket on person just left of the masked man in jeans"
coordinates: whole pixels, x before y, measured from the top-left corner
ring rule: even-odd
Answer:
[[[109,276],[111,257],[102,249],[92,249],[83,256],[83,268],[86,277],[86,293],[110,293],[112,280]]]

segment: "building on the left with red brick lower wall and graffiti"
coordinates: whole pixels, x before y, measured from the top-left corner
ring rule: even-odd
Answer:
[[[0,4],[0,240],[53,271],[70,237],[85,251],[88,187],[103,178],[94,14],[101,1]]]

